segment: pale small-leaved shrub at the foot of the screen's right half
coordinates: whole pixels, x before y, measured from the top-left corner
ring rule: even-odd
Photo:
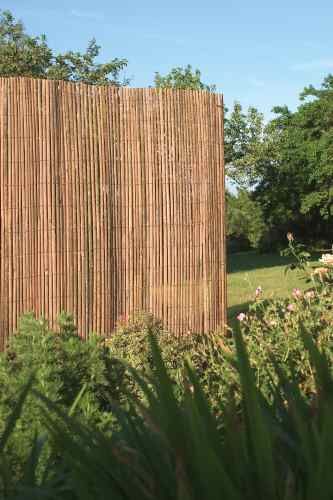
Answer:
[[[189,359],[212,408],[218,414],[221,402],[228,396],[230,384],[236,383],[237,378],[226,362],[232,353],[232,340],[222,332],[206,335],[191,333],[177,337],[168,332],[153,315],[138,312],[123,318],[106,344],[112,358],[123,360],[140,375],[150,377],[154,372],[150,335],[159,343],[176,397],[183,395],[183,370],[185,360]],[[133,372],[122,363],[118,366],[124,399],[128,393],[144,399],[144,392],[137,385]]]

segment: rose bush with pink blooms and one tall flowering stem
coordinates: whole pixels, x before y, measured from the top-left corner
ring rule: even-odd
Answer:
[[[291,233],[288,240],[284,253],[295,258],[290,268],[301,271],[311,287],[305,292],[296,288],[289,298],[274,300],[265,299],[258,287],[254,303],[247,312],[238,315],[256,382],[267,396],[272,396],[269,374],[273,369],[272,356],[288,376],[293,374],[305,394],[315,392],[315,377],[299,336],[300,324],[333,367],[333,255],[324,255],[319,267],[313,268],[305,247],[296,243]]]

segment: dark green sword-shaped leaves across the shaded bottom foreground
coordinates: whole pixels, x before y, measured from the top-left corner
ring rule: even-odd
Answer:
[[[43,442],[36,438],[25,475],[14,484],[6,469],[6,439],[19,418],[29,382],[0,441],[2,493],[7,498],[57,499],[320,499],[333,498],[333,379],[326,357],[300,325],[315,373],[315,397],[307,399],[272,359],[273,397],[255,384],[246,348],[235,332],[241,407],[232,389],[218,427],[198,379],[186,363],[182,400],[174,394],[155,337],[156,369],[149,380],[128,367],[147,404],[131,398],[128,411],[113,408],[118,431],[93,432],[45,398],[44,418],[54,456],[44,477],[34,470]],[[276,382],[278,380],[278,382]],[[83,392],[83,391],[82,391]]]

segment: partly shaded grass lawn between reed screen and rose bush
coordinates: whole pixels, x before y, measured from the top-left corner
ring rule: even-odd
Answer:
[[[245,311],[261,286],[267,298],[288,297],[293,288],[309,288],[298,271],[285,273],[286,257],[278,254],[243,252],[228,256],[228,317]]]

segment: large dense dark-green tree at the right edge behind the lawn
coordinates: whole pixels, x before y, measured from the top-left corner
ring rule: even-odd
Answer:
[[[258,156],[256,199],[268,224],[306,239],[331,239],[333,229],[333,76],[301,94],[293,113],[276,107],[269,124],[275,156]],[[266,142],[268,144],[268,142]]]

